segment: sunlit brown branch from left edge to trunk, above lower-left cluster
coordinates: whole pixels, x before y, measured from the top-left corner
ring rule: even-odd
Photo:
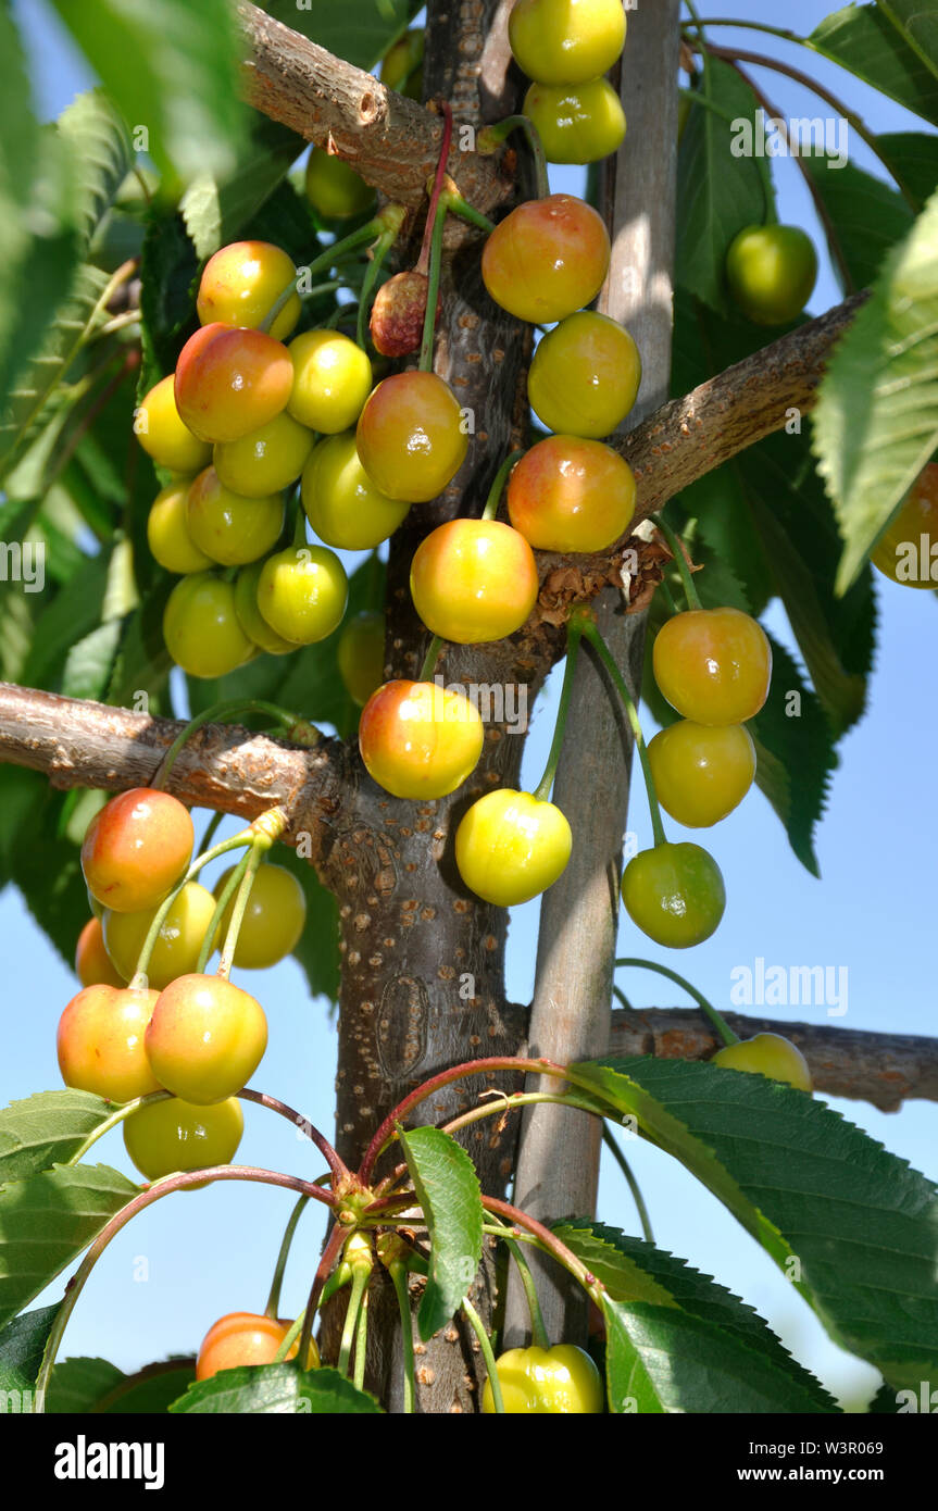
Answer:
[[[147,786],[183,728],[178,719],[0,683],[0,762],[45,772],[59,789]],[[166,786],[183,802],[245,819],[279,802],[290,814],[287,842],[308,833],[316,854],[317,833],[338,802],[340,754],[335,740],[304,749],[237,724],[205,724]]]

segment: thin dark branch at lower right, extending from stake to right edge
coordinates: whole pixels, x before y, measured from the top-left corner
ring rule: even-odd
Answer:
[[[897,1112],[918,1097],[938,1102],[938,1038],[917,1034],[872,1034],[823,1023],[788,1023],[724,1012],[740,1038],[782,1034],[811,1067],[814,1086],[832,1097],[872,1102]],[[630,1008],[612,1014],[610,1055],[657,1055],[660,1059],[708,1059],[719,1040],[696,1008]]]

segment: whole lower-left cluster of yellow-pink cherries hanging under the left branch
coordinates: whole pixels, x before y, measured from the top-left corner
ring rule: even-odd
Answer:
[[[234,1094],[267,1046],[257,999],[228,981],[227,969],[199,969],[225,937],[234,899],[218,911],[230,870],[214,895],[184,879],[192,848],[189,810],[153,787],[112,798],[82,846],[95,911],[76,952],[83,988],[59,1020],[59,1068],[66,1086],[115,1103],[172,1094],[124,1121],[127,1151],[148,1180],[231,1160],[243,1130]],[[163,917],[147,959],[157,911]],[[296,947],[305,914],[292,872],[260,864],[231,963],[248,970],[276,964]]]

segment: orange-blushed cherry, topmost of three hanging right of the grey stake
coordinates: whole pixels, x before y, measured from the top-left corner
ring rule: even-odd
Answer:
[[[743,724],[769,697],[772,647],[740,609],[690,609],[657,633],[654,680],[695,724]]]

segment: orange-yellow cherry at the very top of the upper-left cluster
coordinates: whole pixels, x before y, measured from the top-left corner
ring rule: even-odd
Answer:
[[[295,278],[296,267],[282,248],[270,242],[231,242],[202,269],[195,305],[199,322],[258,326]],[[276,341],[287,338],[301,310],[299,295],[293,295],[270,326]]]

